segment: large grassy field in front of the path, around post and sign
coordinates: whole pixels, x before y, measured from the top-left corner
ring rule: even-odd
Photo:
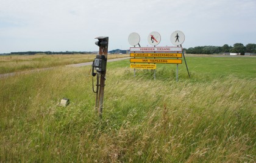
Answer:
[[[255,162],[256,58],[186,59],[109,62],[102,119],[91,66],[0,79],[0,162]]]

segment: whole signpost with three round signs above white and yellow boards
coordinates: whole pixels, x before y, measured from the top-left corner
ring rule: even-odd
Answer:
[[[170,38],[172,44],[177,45],[177,47],[155,47],[161,41],[161,36],[158,32],[151,32],[148,35],[148,42],[154,47],[140,47],[140,36],[138,33],[130,33],[128,42],[133,47],[130,47],[130,68],[135,69],[154,69],[154,79],[155,79],[155,69],[156,64],[177,64],[176,80],[178,81],[179,64],[182,64],[182,58],[187,67],[187,62],[182,49],[182,43],[185,41],[185,35],[183,32],[177,30],[171,34]],[[135,47],[139,45],[139,47]],[[174,59],[177,58],[177,59]],[[132,64],[133,63],[133,64]],[[148,63],[148,64],[135,64],[135,63]],[[188,76],[190,76],[188,72]]]

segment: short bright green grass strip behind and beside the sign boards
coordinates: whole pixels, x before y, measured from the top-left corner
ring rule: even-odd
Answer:
[[[209,57],[209,56],[187,56],[188,69],[192,80],[205,81],[211,78],[222,78],[224,76],[235,76],[237,78],[255,78],[256,57]],[[179,65],[179,79],[188,79],[185,61]],[[126,62],[108,63],[108,67],[129,67],[129,60]],[[157,64],[156,78],[176,78],[176,64]],[[137,72],[150,73],[151,70],[137,70]],[[142,73],[142,75],[144,74]],[[137,73],[141,75],[141,73]],[[153,75],[150,77],[153,78]]]

